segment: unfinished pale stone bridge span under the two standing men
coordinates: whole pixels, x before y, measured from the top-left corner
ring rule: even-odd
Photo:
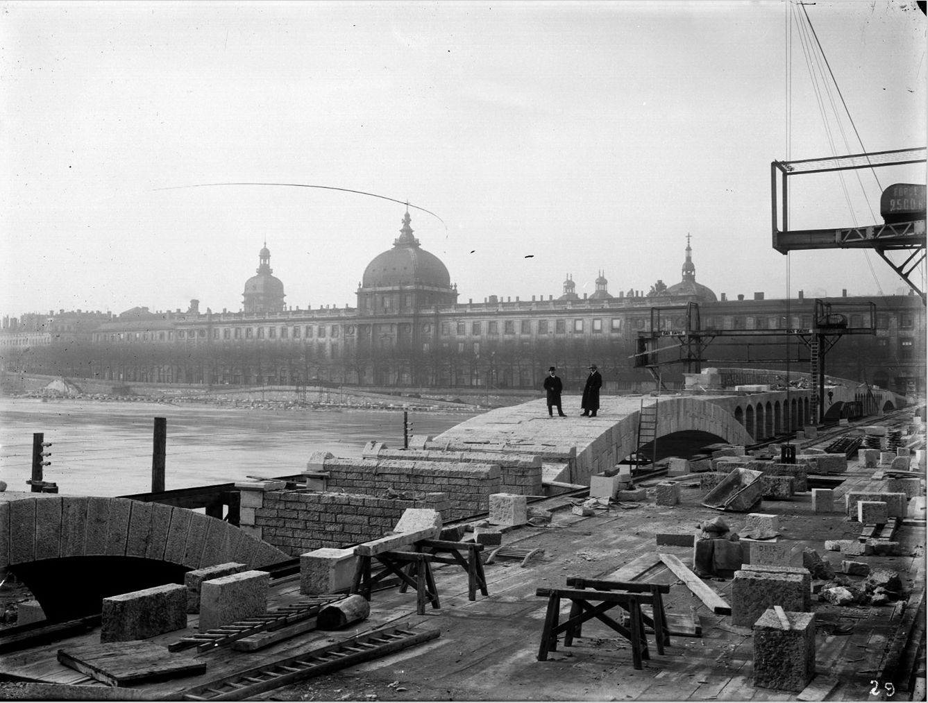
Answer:
[[[564,396],[567,417],[548,417],[544,399],[471,417],[429,442],[430,448],[465,446],[546,452],[545,479],[588,484],[638,449],[642,407],[657,405],[656,437],[702,433],[703,443],[754,444],[802,429],[811,390],[773,390],[740,395],[602,396],[596,417],[580,416],[580,399]],[[558,461],[558,455],[565,457]],[[566,457],[571,457],[567,459]]]

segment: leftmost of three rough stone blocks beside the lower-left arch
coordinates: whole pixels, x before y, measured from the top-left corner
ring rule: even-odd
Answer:
[[[103,599],[100,642],[144,640],[187,627],[187,587],[168,583]]]

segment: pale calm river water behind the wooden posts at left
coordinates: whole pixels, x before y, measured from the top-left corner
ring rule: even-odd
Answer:
[[[412,434],[436,435],[473,413],[410,412]],[[209,405],[0,398],[0,479],[29,491],[32,433],[45,433],[43,478],[60,494],[151,490],[154,418],[167,418],[165,489],[300,473],[316,451],[360,456],[367,441],[403,447],[403,412],[255,410]]]

